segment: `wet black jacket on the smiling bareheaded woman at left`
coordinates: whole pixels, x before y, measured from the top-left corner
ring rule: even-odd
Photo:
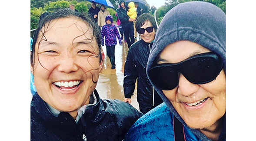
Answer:
[[[86,107],[78,123],[66,112],[55,117],[36,93],[30,106],[31,141],[122,141],[142,113],[120,100],[102,100]]]

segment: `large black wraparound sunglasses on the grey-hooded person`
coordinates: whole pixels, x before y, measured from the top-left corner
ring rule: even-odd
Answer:
[[[191,56],[178,63],[157,64],[149,71],[149,77],[154,85],[162,90],[171,90],[179,84],[178,72],[194,84],[205,84],[213,81],[223,69],[220,56],[207,52]]]

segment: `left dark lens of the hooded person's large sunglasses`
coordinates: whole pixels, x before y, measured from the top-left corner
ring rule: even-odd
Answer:
[[[159,66],[150,69],[149,77],[162,90],[174,89],[178,85],[178,75],[170,66]]]

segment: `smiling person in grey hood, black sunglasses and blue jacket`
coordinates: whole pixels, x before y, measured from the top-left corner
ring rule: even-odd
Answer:
[[[206,2],[164,16],[146,68],[163,104],[125,141],[226,141],[226,15]]]

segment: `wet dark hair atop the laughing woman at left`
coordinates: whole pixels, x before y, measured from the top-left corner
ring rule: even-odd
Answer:
[[[65,9],[59,9],[56,10],[55,12],[46,12],[42,14],[43,16],[40,16],[40,19],[38,21],[38,27],[37,30],[34,33],[34,39],[33,39],[33,44],[32,44],[32,52],[30,56],[30,63],[31,66],[34,67],[34,54],[35,54],[35,45],[37,43],[38,35],[40,33],[44,34],[47,32],[48,26],[46,25],[47,23],[50,23],[51,20],[56,20],[60,18],[78,18],[82,21],[84,21],[89,28],[93,30],[93,37],[96,39],[97,46],[99,49],[99,54],[97,57],[100,57],[100,62],[102,60],[102,55],[101,55],[101,35],[100,35],[100,30],[98,28],[98,25],[95,24],[91,16],[88,15],[88,13],[78,13],[73,10],[70,10],[70,8],[65,8]],[[42,31],[42,27],[44,27],[44,30]]]

